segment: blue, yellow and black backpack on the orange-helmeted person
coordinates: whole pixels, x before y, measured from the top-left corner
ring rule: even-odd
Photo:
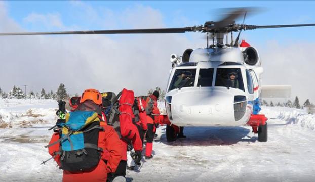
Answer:
[[[98,147],[99,131],[104,131],[100,122],[94,111],[74,111],[58,125],[59,140],[45,147],[60,143],[56,155],[60,155],[63,170],[88,172],[97,167],[103,151]]]

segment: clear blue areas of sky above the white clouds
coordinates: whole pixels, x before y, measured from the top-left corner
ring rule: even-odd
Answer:
[[[88,1],[83,3],[85,6],[92,7],[94,12],[91,13],[97,14],[100,18],[105,17],[104,12],[108,10],[120,12],[139,5],[148,6],[161,12],[165,23],[164,27],[193,26],[203,24],[205,21],[217,20],[218,16],[214,12],[218,8],[228,7],[261,7],[263,9],[260,13],[248,17],[246,24],[272,25],[315,22],[314,1]],[[57,30],[56,27],[48,29],[25,22],[25,17],[31,13],[58,14],[65,26],[73,26],[76,29],[132,28],[119,22],[116,22],[117,26],[105,26],[101,22],[90,21],[90,17],[83,17],[87,14],[82,14],[82,7],[76,5],[79,2],[10,1],[7,4],[9,15],[23,28],[30,31]],[[142,27],[146,28],[145,24]],[[314,31],[315,27],[264,29],[247,31],[246,37],[255,41],[275,38],[281,42],[315,40],[315,36],[308,34],[308,32]]]

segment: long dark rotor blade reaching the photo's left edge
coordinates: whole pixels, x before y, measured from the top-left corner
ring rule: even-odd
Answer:
[[[0,36],[5,36],[5,35],[65,35],[65,34],[185,33],[185,32],[195,32],[195,31],[198,31],[198,27],[126,29],[126,30],[56,31],[56,32],[20,32],[20,33],[0,33]]]

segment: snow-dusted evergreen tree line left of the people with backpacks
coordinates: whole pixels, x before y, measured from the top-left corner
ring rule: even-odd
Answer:
[[[0,99],[67,99],[69,95],[67,94],[66,88],[63,83],[61,83],[56,92],[51,90],[50,92],[46,92],[44,88],[42,88],[40,93],[34,93],[33,91],[29,92],[29,94],[25,94],[23,90],[17,86],[13,86],[12,90],[9,93],[4,92],[0,87]]]

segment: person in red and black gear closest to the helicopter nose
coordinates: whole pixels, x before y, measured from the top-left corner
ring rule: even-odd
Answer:
[[[159,91],[155,90],[153,94],[151,94],[147,100],[147,132],[146,132],[146,149],[145,149],[145,159],[151,159],[152,156],[152,148],[153,148],[153,139],[156,131],[156,127],[159,126],[160,123],[160,111],[157,107],[157,99],[159,98]],[[152,103],[153,102],[153,103]]]

